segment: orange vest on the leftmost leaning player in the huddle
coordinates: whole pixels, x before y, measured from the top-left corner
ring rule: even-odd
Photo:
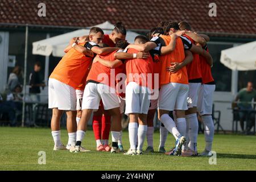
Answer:
[[[76,89],[82,83],[91,64],[92,57],[86,57],[84,54],[76,51],[76,49],[71,48],[63,56],[49,77]]]

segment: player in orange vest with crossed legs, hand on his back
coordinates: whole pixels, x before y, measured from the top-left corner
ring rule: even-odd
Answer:
[[[165,33],[172,35],[178,30],[179,26],[176,22],[168,23]],[[180,31],[179,34],[182,35],[183,32]],[[155,37],[152,38],[150,42],[138,47],[134,46],[133,48],[138,48],[139,51],[149,51],[152,48],[168,45],[171,40],[171,36],[155,34]],[[184,110],[187,110],[188,78],[187,70],[184,66],[192,61],[192,56],[188,56],[188,59],[185,59],[184,48],[190,49],[191,47],[192,44],[189,40],[178,37],[174,51],[167,55],[160,56],[161,89],[158,98],[159,117],[164,127],[166,127],[176,139],[175,148],[170,155],[180,155],[181,146],[185,143],[185,132],[183,131],[184,134],[180,134],[177,127],[180,126],[180,123],[182,123],[182,125],[185,124]],[[191,54],[189,51],[186,52]],[[172,64],[173,66],[170,67]],[[172,110],[177,110],[178,113],[177,120],[179,121],[177,122],[177,127],[175,126],[174,120],[168,115]]]

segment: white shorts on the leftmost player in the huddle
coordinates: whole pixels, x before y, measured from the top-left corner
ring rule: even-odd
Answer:
[[[48,107],[59,110],[76,110],[76,90],[59,80],[49,78]]]

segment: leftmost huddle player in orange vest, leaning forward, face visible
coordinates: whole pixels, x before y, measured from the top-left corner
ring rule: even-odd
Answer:
[[[71,40],[60,60],[49,77],[49,108],[52,109],[51,129],[55,142],[53,150],[66,150],[60,139],[60,118],[63,111],[67,114],[67,130],[71,145],[76,143],[76,88],[82,81],[87,69],[92,63],[93,52],[104,54],[117,48],[100,48],[104,32],[101,28],[92,27],[89,33],[89,41],[84,46],[79,46],[75,40]],[[73,43],[72,43],[73,42]],[[72,45],[71,45],[72,44]],[[77,51],[77,49],[79,51]],[[81,51],[82,49],[82,51]]]

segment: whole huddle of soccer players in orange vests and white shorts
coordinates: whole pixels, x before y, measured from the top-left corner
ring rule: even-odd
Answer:
[[[196,156],[198,120],[204,123],[205,150],[212,150],[212,104],[215,84],[211,73],[207,35],[191,31],[188,22],[161,22],[134,44],[126,40],[121,22],[104,35],[92,27],[89,35],[73,38],[49,77],[49,108],[53,150],[86,152],[81,146],[92,118],[97,151],[125,152],[123,114],[129,117],[130,148],[124,154],[153,152],[154,115],[161,122],[159,152]],[[157,110],[157,113],[156,113]],[[68,144],[60,139],[60,118],[67,114]],[[112,146],[109,146],[109,133]],[[174,148],[166,151],[168,133]]]

